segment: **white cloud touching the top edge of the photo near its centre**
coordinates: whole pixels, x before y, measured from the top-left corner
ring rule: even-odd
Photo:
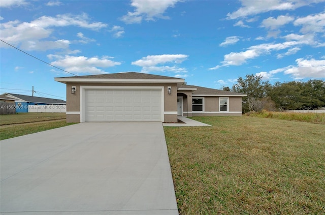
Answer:
[[[174,7],[177,2],[182,0],[132,0],[131,6],[135,7],[134,12],[127,12],[120,19],[127,24],[141,23],[142,20],[153,21],[155,18],[168,18],[163,14],[165,11]]]

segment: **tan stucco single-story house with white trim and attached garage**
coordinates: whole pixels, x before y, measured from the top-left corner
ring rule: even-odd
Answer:
[[[67,84],[67,122],[177,122],[177,116],[240,116],[242,97],[247,96],[136,72],[54,80]]]

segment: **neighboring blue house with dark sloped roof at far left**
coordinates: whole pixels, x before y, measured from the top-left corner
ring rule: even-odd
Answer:
[[[65,105],[66,101],[61,99],[50,99],[44,97],[26,96],[20,94],[5,93],[2,96],[14,99],[17,113],[27,113],[28,105]]]

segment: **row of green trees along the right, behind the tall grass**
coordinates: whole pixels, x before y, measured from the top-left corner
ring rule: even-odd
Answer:
[[[311,110],[325,106],[325,81],[308,80],[275,82],[263,81],[262,76],[246,75],[239,77],[237,83],[223,90],[247,94],[244,97],[243,112],[282,110]]]

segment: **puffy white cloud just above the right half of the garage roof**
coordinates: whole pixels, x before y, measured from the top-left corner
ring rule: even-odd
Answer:
[[[142,57],[135,62],[132,62],[132,65],[142,67],[141,72],[150,73],[150,72],[174,72],[174,73],[186,73],[185,68],[179,68],[175,64],[181,64],[186,60],[188,55],[185,54],[161,54],[161,55],[148,55]],[[161,64],[172,64],[173,66],[157,66]]]

